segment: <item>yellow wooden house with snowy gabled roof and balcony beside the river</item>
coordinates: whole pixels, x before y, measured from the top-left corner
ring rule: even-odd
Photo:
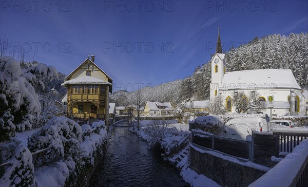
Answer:
[[[109,92],[112,79],[97,64],[94,55],[86,59],[64,79],[67,87],[67,114],[79,118],[109,121]]]

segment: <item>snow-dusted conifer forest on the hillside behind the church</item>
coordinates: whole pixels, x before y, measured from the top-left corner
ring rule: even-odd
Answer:
[[[214,54],[213,54],[214,55]],[[291,69],[302,89],[308,89],[308,34],[291,33],[288,36],[274,34],[257,37],[226,53],[226,72],[249,69]],[[210,60],[210,57],[208,58]],[[211,65],[206,62],[195,69],[191,76],[182,80],[179,95],[172,102],[185,99],[209,99]],[[161,96],[161,101],[166,101]],[[169,100],[170,101],[170,100]]]

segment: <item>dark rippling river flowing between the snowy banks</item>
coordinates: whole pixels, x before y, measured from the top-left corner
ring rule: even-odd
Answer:
[[[180,171],[148,149],[127,127],[114,127],[107,153],[94,170],[90,186],[189,186]]]

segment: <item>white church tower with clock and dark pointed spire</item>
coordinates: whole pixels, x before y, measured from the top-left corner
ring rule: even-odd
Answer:
[[[210,85],[210,98],[219,95],[219,83],[222,82],[226,69],[225,54],[222,53],[220,41],[220,29],[218,28],[218,37],[216,44],[216,53],[211,59],[211,85]]]

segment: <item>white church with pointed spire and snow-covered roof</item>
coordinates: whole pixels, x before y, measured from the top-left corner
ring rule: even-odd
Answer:
[[[227,61],[225,54],[222,53],[219,29],[216,53],[210,63],[210,99],[222,97],[225,101],[226,113],[236,113],[236,106],[233,103],[233,96],[236,93],[244,92],[243,97],[247,99],[251,92],[257,91],[260,101],[265,102],[261,109],[265,114],[270,114],[270,107],[273,116],[305,114],[303,90],[290,69],[226,72]],[[270,96],[272,97],[269,100],[273,100],[271,103],[268,102]]]

